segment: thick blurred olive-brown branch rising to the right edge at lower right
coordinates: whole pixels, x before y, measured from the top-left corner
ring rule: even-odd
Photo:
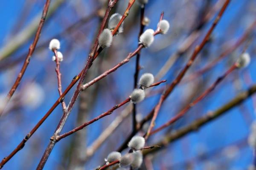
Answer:
[[[161,148],[155,147],[152,150],[143,150],[143,155],[147,155],[149,153],[156,152],[163,147],[166,147],[169,143],[187,135],[188,133],[191,133],[193,131],[197,131],[199,128],[204,126],[205,124],[209,123],[210,121],[215,120],[221,115],[224,115],[227,111],[230,109],[233,109],[233,107],[236,107],[237,105],[241,104],[244,100],[249,98],[251,95],[253,95],[256,92],[256,84],[253,84],[248,90],[239,93],[235,98],[233,98],[231,101],[229,101],[227,104],[224,104],[219,109],[209,112],[203,117],[193,121],[191,124],[189,124],[186,127],[182,127],[179,130],[175,130],[171,132],[169,135],[166,135],[163,140],[157,142],[154,145],[158,145]]]

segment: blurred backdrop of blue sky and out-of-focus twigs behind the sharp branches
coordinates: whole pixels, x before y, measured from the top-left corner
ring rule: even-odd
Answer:
[[[6,97],[20,72],[44,3],[44,0],[8,0],[0,3],[0,101]],[[167,83],[148,89],[148,98],[137,104],[138,121],[157,104],[163,89],[186,64],[223,3],[224,0],[148,1],[145,17],[148,17],[150,23],[145,29],[156,29],[161,12],[164,12],[164,19],[169,21],[170,29],[166,35],[157,35],[149,48],[142,49],[140,64],[143,69],[140,75],[150,72],[158,80],[166,79]],[[119,0],[111,13],[123,14],[127,4],[128,0]],[[0,118],[0,158],[7,156],[20,143],[59,96],[53,53],[48,49],[49,41],[58,38],[61,42],[64,90],[84,67],[106,5],[106,0],[52,0],[37,48],[20,86]],[[160,127],[204,92],[243,51],[250,54],[250,65],[235,70],[171,128],[148,138],[147,146],[160,141],[172,133],[172,130],[180,129],[207,112],[218,109],[256,82],[255,22],[255,0],[231,0],[195,63],[163,103],[155,127]],[[133,52],[138,45],[139,29],[140,5],[135,3],[124,22],[124,32],[114,37],[113,45],[104,49],[93,62],[85,81],[88,82],[112,68],[129,52]],[[222,59],[212,67],[193,76],[220,56],[223,56]],[[62,132],[73,129],[125,100],[134,88],[135,61],[132,58],[111,75],[82,92]],[[65,97],[67,104],[74,89]],[[251,133],[250,125],[255,119],[255,97],[248,98],[197,131],[166,144],[158,152],[147,155],[142,169],[246,170],[253,163],[253,149],[248,145],[247,138]],[[2,103],[0,102],[0,106]],[[131,104],[126,104],[112,115],[58,142],[44,168],[92,170],[101,165],[108,153],[117,150],[130,134],[130,110]],[[61,115],[62,108],[59,105],[3,169],[35,169]],[[120,123],[115,124],[118,126],[104,139],[103,144],[96,146],[95,141],[116,118],[119,118]],[[146,126],[147,124],[143,130],[146,130]],[[145,133],[143,130],[139,134]]]

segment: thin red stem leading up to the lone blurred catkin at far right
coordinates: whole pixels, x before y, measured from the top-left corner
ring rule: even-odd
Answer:
[[[175,121],[179,120],[183,115],[186,114],[186,112],[189,111],[189,109],[193,106],[195,106],[195,104],[197,104],[199,101],[201,101],[203,98],[205,98],[205,96],[207,96],[210,92],[212,92],[212,90],[215,89],[215,87],[221,82],[223,81],[223,79],[229,75],[231,72],[233,72],[233,70],[235,70],[237,68],[236,64],[233,64],[230,69],[228,69],[223,75],[221,75],[219,78],[217,78],[217,80],[207,89],[205,90],[198,98],[196,98],[194,101],[192,101],[190,104],[188,104],[184,109],[182,109],[177,115],[175,115],[170,121],[168,121],[167,123],[163,124],[162,126],[158,127],[156,130],[153,130],[150,135],[159,132],[160,130],[163,130],[165,127],[168,127],[169,125],[171,125],[172,123],[174,123]]]

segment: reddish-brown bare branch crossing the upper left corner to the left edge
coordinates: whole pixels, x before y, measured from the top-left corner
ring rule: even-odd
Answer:
[[[36,44],[38,43],[38,40],[39,40],[39,37],[41,35],[41,30],[44,26],[44,21],[46,19],[46,16],[47,16],[47,12],[48,12],[48,9],[49,9],[49,6],[50,6],[50,2],[51,0],[46,0],[45,4],[44,4],[44,9],[43,9],[43,14],[42,14],[42,17],[41,17],[41,20],[40,20],[40,23],[38,25],[38,29],[36,31],[36,34],[35,34],[35,38],[34,38],[34,41],[33,43],[29,46],[29,52],[28,54],[26,55],[26,58],[25,58],[25,61],[23,63],[23,66],[20,70],[20,73],[18,74],[17,78],[16,78],[16,81],[15,83],[13,84],[12,88],[10,89],[8,95],[6,96],[6,100],[5,100],[5,107],[7,106],[7,104],[9,103],[10,99],[12,98],[12,95],[14,94],[15,90],[17,89],[17,87],[19,86],[20,84],[20,81],[26,71],[26,68],[27,66],[29,65],[29,61],[30,61],[30,58],[33,54],[33,52],[35,51],[35,47],[36,47]],[[0,116],[2,115],[4,109],[0,109]],[[6,158],[8,159],[8,158]],[[0,163],[0,167],[3,166],[2,163]]]

